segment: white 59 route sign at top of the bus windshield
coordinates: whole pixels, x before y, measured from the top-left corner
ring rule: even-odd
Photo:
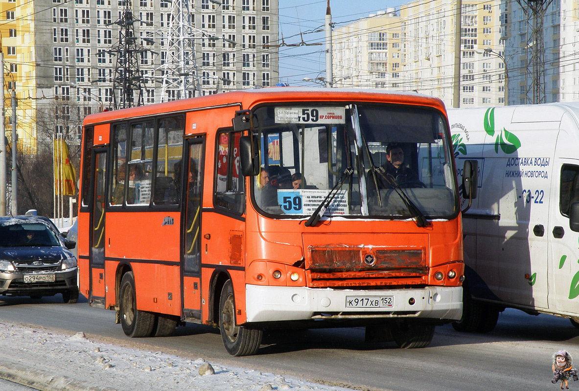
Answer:
[[[344,107],[276,107],[278,124],[343,124],[346,123]]]

